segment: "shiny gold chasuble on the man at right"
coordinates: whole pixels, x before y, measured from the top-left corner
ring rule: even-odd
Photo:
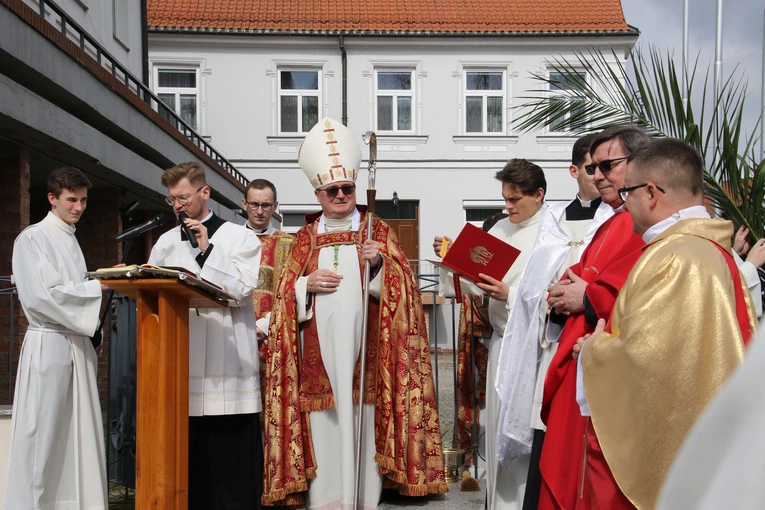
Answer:
[[[719,248],[730,253],[732,235],[720,219],[665,230],[619,292],[611,333],[582,350],[592,424],[614,479],[638,509],[656,505],[685,436],[743,359],[736,291]]]

